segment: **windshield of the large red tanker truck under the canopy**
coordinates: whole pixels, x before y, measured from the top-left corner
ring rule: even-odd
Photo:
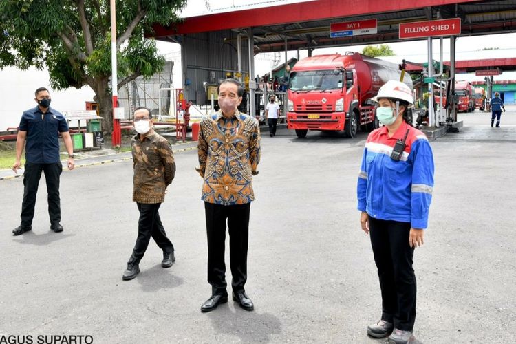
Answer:
[[[310,70],[292,72],[288,88],[291,91],[310,91],[312,89],[341,89],[342,74],[335,70]]]

